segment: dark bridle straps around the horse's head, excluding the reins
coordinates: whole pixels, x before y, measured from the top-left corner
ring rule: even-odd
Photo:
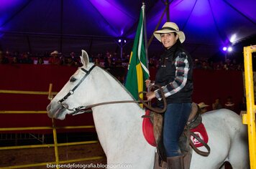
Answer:
[[[86,106],[80,106],[80,107],[76,107],[76,108],[70,109],[70,108],[68,108],[68,105],[67,105],[67,104],[63,104],[63,102],[64,102],[65,100],[67,100],[68,97],[70,97],[70,95],[73,95],[73,93],[75,92],[75,90],[76,90],[76,89],[78,88],[78,86],[83,82],[83,80],[86,79],[86,77],[88,76],[88,74],[91,73],[91,71],[93,70],[94,67],[96,67],[95,64],[94,64],[89,70],[86,70],[86,69],[81,68],[81,70],[83,70],[83,72],[86,72],[86,74],[84,74],[83,78],[78,82],[78,84],[76,84],[76,86],[73,88],[73,90],[70,90],[67,95],[65,95],[61,100],[58,101],[58,104],[59,104],[59,105],[65,107],[65,109],[67,109],[67,110],[73,111],[72,113],[70,113],[70,114],[72,114],[72,115],[78,114],[79,112],[84,111],[84,110],[86,109]]]

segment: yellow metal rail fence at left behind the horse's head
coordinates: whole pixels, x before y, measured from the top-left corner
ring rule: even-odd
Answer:
[[[56,95],[57,92],[52,92],[52,84],[50,84],[49,92],[35,92],[35,91],[19,91],[19,90],[0,90],[1,93],[9,93],[9,94],[25,94],[25,95],[48,95],[48,99],[52,100],[52,95]],[[41,114],[41,113],[47,113],[46,111],[6,111],[6,110],[0,110],[0,114],[27,114],[27,113],[33,113],[33,114]],[[95,144],[99,143],[98,140],[93,141],[83,141],[83,142],[74,142],[74,143],[58,143],[57,141],[57,129],[81,129],[81,128],[94,128],[93,125],[83,125],[83,126],[65,126],[65,127],[57,127],[55,126],[55,120],[52,119],[52,127],[5,127],[0,128],[0,131],[17,131],[17,130],[52,130],[53,134],[53,144],[45,144],[45,145],[21,145],[21,146],[8,146],[8,147],[0,147],[0,150],[13,150],[13,149],[24,149],[24,148],[50,148],[54,147],[55,149],[55,161],[45,162],[45,163],[32,163],[27,165],[12,165],[12,166],[6,166],[6,167],[0,167],[0,169],[4,168],[28,168],[28,167],[37,167],[37,166],[43,166],[43,165],[50,165],[55,164],[57,165],[57,168],[60,164],[64,163],[76,163],[79,161],[84,160],[98,160],[101,158],[104,158],[103,156],[95,156],[90,158],[79,158],[79,159],[73,159],[73,160],[59,160],[59,154],[58,154],[58,147],[60,146],[68,146],[68,145],[85,145],[85,144]]]

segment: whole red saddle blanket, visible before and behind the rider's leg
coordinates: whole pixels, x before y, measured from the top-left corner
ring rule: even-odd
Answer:
[[[145,115],[150,116],[150,110],[146,110]],[[147,143],[156,147],[157,144],[155,143],[153,124],[150,121],[150,118],[148,117],[143,118],[142,131],[145,139],[147,140]],[[198,137],[204,140],[205,143],[208,143],[209,137],[207,135],[206,128],[204,127],[203,123],[191,129],[191,132],[194,132],[196,135],[198,135]],[[193,144],[196,146],[196,148],[203,146],[203,144],[200,143],[198,140],[196,140],[196,138],[194,138],[192,135],[191,135],[191,140]]]

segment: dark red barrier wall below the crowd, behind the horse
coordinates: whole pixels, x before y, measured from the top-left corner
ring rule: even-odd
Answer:
[[[52,83],[52,91],[58,92],[76,69],[76,67],[34,64],[0,65],[0,90],[47,92],[49,84]],[[205,102],[211,105],[216,97],[219,97],[224,105],[230,95],[239,113],[238,105],[244,94],[242,72],[194,69],[193,82],[193,102]],[[46,110],[49,102],[47,95],[0,94],[0,110]],[[51,125],[51,120],[46,114],[0,114],[0,127]],[[57,120],[56,125],[93,125],[93,117],[91,114],[69,116],[66,120]]]

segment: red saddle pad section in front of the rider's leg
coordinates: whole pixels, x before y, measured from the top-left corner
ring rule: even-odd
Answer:
[[[150,110],[146,110],[145,115],[150,116]],[[156,147],[157,144],[155,143],[154,129],[153,129],[153,124],[150,121],[150,117],[143,118],[142,131],[145,139],[147,140],[147,143]]]

